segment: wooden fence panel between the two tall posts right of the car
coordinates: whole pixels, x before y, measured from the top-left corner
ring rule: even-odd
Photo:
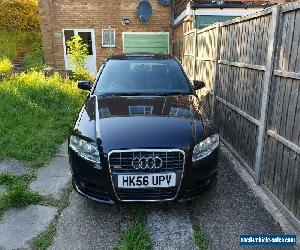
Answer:
[[[221,135],[254,175],[261,100],[265,80],[271,12],[221,24],[215,116]],[[233,112],[228,113],[228,108]],[[226,124],[234,119],[234,135]],[[229,122],[230,123],[230,122]]]

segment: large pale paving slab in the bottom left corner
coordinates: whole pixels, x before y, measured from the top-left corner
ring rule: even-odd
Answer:
[[[56,214],[57,208],[40,205],[7,211],[0,219],[0,249],[29,249]]]

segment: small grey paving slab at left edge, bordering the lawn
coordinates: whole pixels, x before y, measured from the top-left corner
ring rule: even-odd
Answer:
[[[5,159],[0,161],[0,173],[10,173],[13,175],[23,175],[30,172],[30,167],[23,161]]]

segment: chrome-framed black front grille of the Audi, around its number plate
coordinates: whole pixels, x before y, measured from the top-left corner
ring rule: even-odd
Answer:
[[[133,167],[134,159],[161,159],[159,168]],[[114,150],[109,153],[109,166],[116,196],[121,201],[164,201],[176,197],[181,182],[185,155],[174,150]],[[176,173],[176,186],[168,188],[118,188],[118,174]]]

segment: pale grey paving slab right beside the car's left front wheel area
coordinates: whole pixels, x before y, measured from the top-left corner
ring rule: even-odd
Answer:
[[[62,199],[68,193],[70,181],[69,158],[56,156],[46,167],[39,169],[30,188],[50,199]]]

